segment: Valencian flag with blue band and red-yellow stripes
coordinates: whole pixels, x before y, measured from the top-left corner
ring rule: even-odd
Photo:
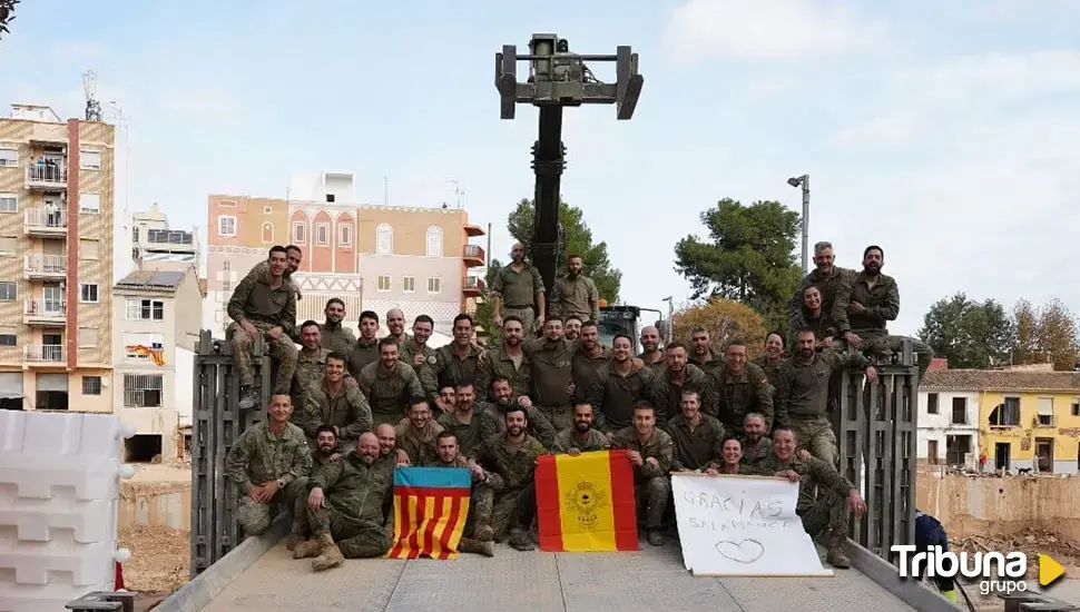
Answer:
[[[455,559],[469,517],[472,473],[459,467],[394,470],[390,559]]]

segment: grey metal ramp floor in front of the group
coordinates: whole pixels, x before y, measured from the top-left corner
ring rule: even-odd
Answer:
[[[823,555],[824,556],[824,555]],[[237,610],[499,610],[601,612],[893,612],[914,610],[855,569],[835,578],[694,578],[678,541],[640,552],[546,553],[495,546],[454,561],[348,560],[314,573],[279,542],[203,608]]]

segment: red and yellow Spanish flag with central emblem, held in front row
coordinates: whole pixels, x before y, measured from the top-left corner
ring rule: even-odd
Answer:
[[[626,451],[543,455],[536,480],[541,550],[638,550],[634,467]]]

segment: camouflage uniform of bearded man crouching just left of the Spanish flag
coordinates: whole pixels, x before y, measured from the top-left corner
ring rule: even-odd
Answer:
[[[494,492],[491,526],[497,541],[513,529],[528,529],[537,510],[537,487],[533,474],[537,457],[548,454],[540,441],[527,435],[524,443],[513,450],[507,434],[487,440],[477,453],[483,466],[485,482]]]

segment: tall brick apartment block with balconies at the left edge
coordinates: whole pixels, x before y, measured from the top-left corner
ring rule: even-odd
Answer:
[[[115,130],[12,105],[0,118],[0,397],[110,412]]]

